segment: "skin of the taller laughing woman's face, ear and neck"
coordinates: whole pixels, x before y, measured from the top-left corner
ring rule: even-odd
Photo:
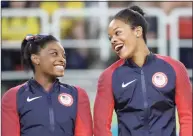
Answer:
[[[139,67],[143,66],[150,51],[143,39],[141,26],[131,29],[129,24],[113,19],[109,24],[108,35],[113,51],[121,59],[132,59]],[[120,51],[116,50],[117,45],[123,45]]]

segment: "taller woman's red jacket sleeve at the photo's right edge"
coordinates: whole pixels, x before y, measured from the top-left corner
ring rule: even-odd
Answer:
[[[180,136],[192,136],[192,86],[185,66],[178,62],[176,72],[175,102],[179,115]]]

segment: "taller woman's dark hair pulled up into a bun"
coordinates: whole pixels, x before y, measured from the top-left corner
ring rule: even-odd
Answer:
[[[144,17],[143,10],[138,6],[131,6],[130,8],[119,11],[113,19],[119,19],[125,23],[129,23],[131,28],[134,29],[137,26],[141,26],[143,29],[143,39],[147,42],[146,33],[148,23]]]

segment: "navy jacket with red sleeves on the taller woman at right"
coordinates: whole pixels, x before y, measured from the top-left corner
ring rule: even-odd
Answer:
[[[113,110],[119,136],[192,136],[192,87],[186,68],[150,53],[142,67],[119,60],[100,76],[94,106],[95,136],[112,136]]]

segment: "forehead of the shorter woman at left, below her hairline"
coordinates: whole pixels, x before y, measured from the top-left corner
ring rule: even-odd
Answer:
[[[52,41],[52,42],[49,42],[46,44],[45,46],[45,49],[48,49],[48,50],[57,50],[57,51],[64,51],[64,48],[63,46],[57,42],[57,41]]]

